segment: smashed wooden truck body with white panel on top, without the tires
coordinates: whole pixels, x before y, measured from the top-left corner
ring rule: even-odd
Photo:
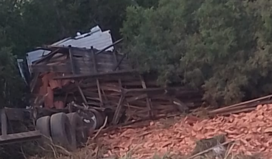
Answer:
[[[163,88],[157,85],[156,76],[140,74],[130,65],[127,53],[114,49],[122,39],[113,43],[111,36],[102,38],[97,34],[109,33],[96,27],[90,33],[27,54],[33,100],[43,99],[38,103],[49,109],[66,109],[74,102],[69,110],[73,107],[90,110],[96,118],[91,122],[98,125],[95,127],[102,126],[106,116],[111,124],[117,125],[160,114],[187,112],[202,104],[202,94],[197,90]]]

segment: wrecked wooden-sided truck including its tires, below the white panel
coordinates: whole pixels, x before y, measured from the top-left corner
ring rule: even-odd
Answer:
[[[138,72],[127,54],[113,49],[120,41],[102,49],[73,44],[38,48],[46,55],[28,64],[32,106],[27,112],[36,121],[35,139],[51,137],[72,150],[103,124],[154,119],[202,103],[196,90],[160,87],[156,76]]]

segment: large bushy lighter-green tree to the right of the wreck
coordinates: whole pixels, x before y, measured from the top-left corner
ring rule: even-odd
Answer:
[[[132,62],[162,84],[190,84],[211,104],[272,93],[272,1],[160,0],[128,7]]]

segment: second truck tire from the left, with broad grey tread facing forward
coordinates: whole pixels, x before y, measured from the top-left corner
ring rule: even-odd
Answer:
[[[51,116],[50,121],[51,136],[54,144],[58,144],[69,151],[76,149],[75,131],[65,113],[56,113]]]

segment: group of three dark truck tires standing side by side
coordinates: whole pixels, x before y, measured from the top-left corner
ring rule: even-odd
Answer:
[[[41,117],[36,121],[36,128],[41,131],[43,142],[48,142],[51,137],[54,144],[69,151],[87,141],[83,121],[77,113],[56,113],[51,117]]]

